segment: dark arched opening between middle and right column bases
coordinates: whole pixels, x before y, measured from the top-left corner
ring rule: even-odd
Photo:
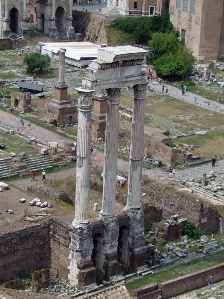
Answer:
[[[118,261],[122,265],[123,270],[128,270],[129,254],[128,254],[128,228],[122,226],[119,229],[118,238]]]

